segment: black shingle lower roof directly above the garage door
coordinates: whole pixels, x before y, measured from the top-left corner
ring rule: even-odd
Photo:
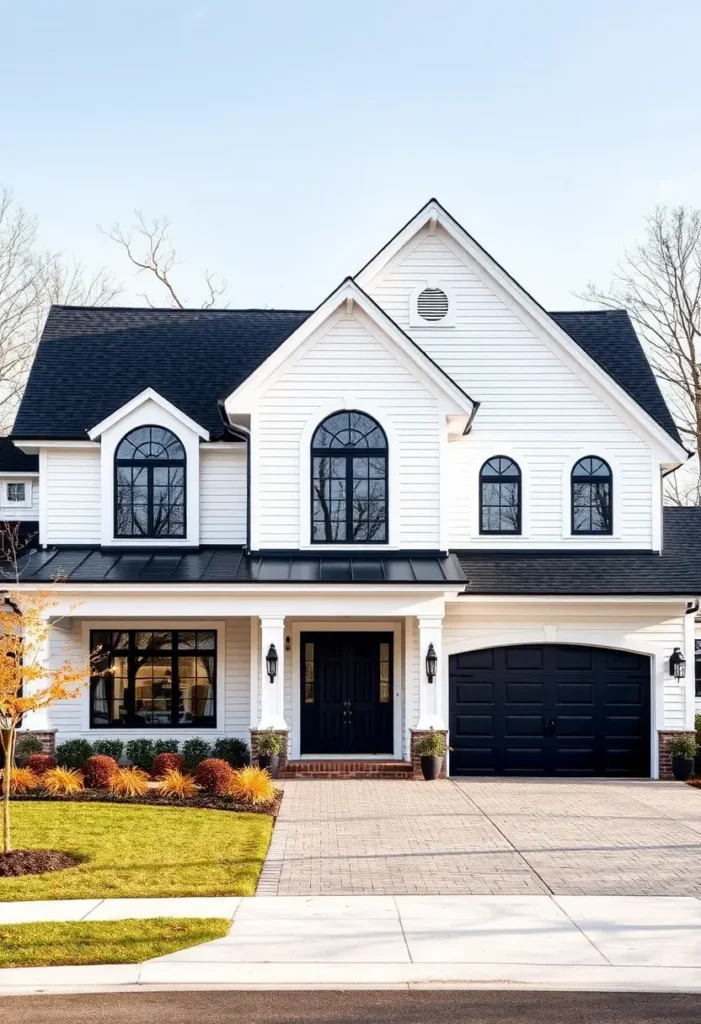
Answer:
[[[701,595],[701,508],[664,509],[654,551],[458,551],[467,594]]]

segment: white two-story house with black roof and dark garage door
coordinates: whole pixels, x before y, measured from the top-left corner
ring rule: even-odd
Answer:
[[[11,440],[47,657],[101,658],[27,728],[652,777],[693,728],[701,510],[631,324],[546,312],[435,200],[312,312],[52,308]]]

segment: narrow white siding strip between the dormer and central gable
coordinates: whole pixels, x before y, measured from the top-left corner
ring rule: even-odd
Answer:
[[[200,542],[246,543],[246,445],[200,450]]]

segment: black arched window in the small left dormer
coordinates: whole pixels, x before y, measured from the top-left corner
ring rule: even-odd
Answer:
[[[137,427],[117,447],[115,536],[185,536],[185,450],[165,427]]]

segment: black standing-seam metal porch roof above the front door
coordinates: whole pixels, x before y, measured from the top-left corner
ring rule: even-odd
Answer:
[[[464,585],[455,555],[247,555],[243,548],[204,547],[196,551],[163,549],[109,551],[48,548],[25,555],[21,580],[61,583],[196,584],[402,584]]]

